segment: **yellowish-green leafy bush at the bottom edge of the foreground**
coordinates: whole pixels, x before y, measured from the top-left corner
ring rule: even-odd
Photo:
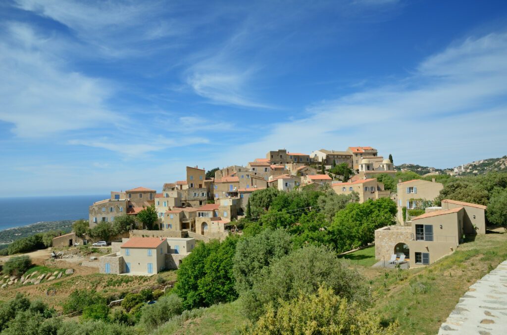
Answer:
[[[278,310],[270,305],[255,324],[246,326],[243,334],[329,334],[364,335],[397,334],[398,322],[383,327],[380,316],[365,311],[357,303],[320,286],[315,294],[303,292],[291,301],[284,301]]]

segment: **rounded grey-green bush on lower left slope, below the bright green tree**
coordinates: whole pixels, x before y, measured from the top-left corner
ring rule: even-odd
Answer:
[[[156,328],[183,312],[182,300],[176,295],[160,298],[155,304],[141,309],[141,322],[147,329]]]

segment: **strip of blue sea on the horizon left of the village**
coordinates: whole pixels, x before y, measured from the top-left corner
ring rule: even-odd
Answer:
[[[88,219],[88,207],[110,195],[0,198],[0,230],[43,221]]]

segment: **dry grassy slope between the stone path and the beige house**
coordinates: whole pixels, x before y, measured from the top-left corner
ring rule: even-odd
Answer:
[[[372,280],[373,311],[398,319],[405,334],[435,334],[468,287],[507,259],[507,234],[478,235],[423,268],[384,271]]]

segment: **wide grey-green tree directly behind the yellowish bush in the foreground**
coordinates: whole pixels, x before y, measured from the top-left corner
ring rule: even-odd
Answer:
[[[321,285],[362,307],[370,302],[366,281],[356,270],[332,250],[308,245],[264,268],[252,289],[242,295],[243,309],[251,320],[256,320],[267,312],[268,306],[276,311],[282,302],[301,294],[315,294]]]

